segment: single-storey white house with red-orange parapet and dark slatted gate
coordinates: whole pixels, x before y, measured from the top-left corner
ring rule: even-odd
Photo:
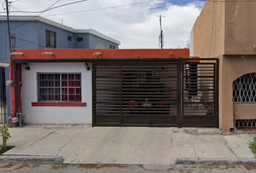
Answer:
[[[218,107],[208,115],[189,102],[196,66],[216,63],[189,58],[189,49],[14,50],[12,60],[12,116],[27,124],[218,128]]]

